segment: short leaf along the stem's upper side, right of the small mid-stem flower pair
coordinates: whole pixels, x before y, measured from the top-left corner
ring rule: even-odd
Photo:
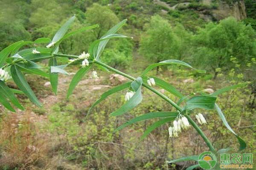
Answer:
[[[183,95],[180,93],[180,91],[177,90],[173,85],[171,85],[168,82],[163,81],[162,79],[158,79],[157,77],[153,77],[156,85],[159,86],[160,88],[165,89],[166,91],[170,92],[171,94],[181,98]]]

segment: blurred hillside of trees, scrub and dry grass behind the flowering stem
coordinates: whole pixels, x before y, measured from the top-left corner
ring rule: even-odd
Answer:
[[[231,13],[219,13],[223,4],[230,6]],[[244,11],[233,13],[239,4],[244,5]],[[149,64],[179,59],[206,70],[202,74],[174,65],[151,71],[152,77],[163,78],[184,96],[191,92],[210,94],[246,82],[246,86],[221,94],[218,103],[230,126],[247,143],[242,153],[256,153],[254,0],[1,0],[0,8],[0,50],[19,40],[52,38],[75,14],[77,19],[69,31],[99,25],[64,40],[59,46],[64,54],[80,55],[114,25],[128,19],[119,33],[133,39],[110,40],[101,57],[102,62],[113,68],[136,77]],[[33,45],[23,48],[29,47]],[[47,63],[43,66],[46,68]],[[192,128],[177,138],[169,138],[170,124],[158,127],[141,141],[140,136],[152,125],[152,120],[113,133],[136,116],[175,109],[143,90],[143,102],[137,108],[124,116],[110,117],[110,113],[125,103],[126,92],[121,91],[88,115],[90,106],[104,91],[126,79],[97,69],[99,79],[92,79],[91,73],[85,75],[67,99],[68,85],[77,67],[67,71],[69,76],[59,76],[58,95],[51,91],[48,78],[26,74],[29,85],[44,105],[42,108],[21,94],[17,96],[25,111],[12,113],[0,105],[1,170],[181,170],[195,162],[167,164],[166,160],[208,150]],[[7,84],[17,88],[11,81]],[[157,89],[179,101],[163,88]],[[219,116],[213,111],[198,111],[206,117],[207,125],[201,128],[214,147],[218,150],[232,147],[236,153],[237,139]]]

